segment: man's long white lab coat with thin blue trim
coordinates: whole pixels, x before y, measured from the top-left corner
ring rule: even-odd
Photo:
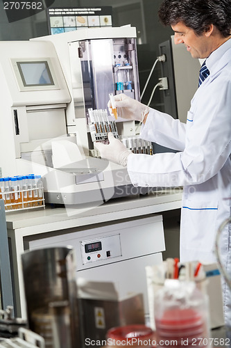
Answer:
[[[214,238],[230,217],[231,40],[206,61],[210,75],[191,100],[187,124],[151,109],[140,137],[179,152],[128,156],[135,186],[183,186],[180,259],[214,261]],[[231,235],[221,236],[222,262],[231,276]],[[173,255],[174,256],[174,255]],[[225,322],[231,326],[231,293],[223,283]]]

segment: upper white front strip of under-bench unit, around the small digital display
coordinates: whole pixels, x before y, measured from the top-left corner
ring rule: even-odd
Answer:
[[[114,239],[115,235],[119,237]],[[105,242],[104,238],[106,238]],[[114,240],[117,239],[117,246],[112,246],[111,238]],[[121,244],[121,252],[119,251],[119,240]],[[101,242],[103,253],[105,253],[105,255],[102,255],[98,262],[84,263],[82,255],[85,244],[94,244],[97,242]],[[30,250],[33,248],[51,246],[73,246],[76,250],[77,271],[80,269],[99,267],[101,264],[139,258],[143,255],[151,255],[165,250],[164,229],[161,215],[113,223],[108,226],[91,228],[84,231],[66,234],[63,233],[62,235],[36,239],[28,243]],[[110,257],[110,255],[107,256],[107,251],[115,253],[114,258]],[[98,253],[97,250],[96,253]],[[102,253],[102,251],[99,253]],[[91,253],[85,254],[87,254],[85,255],[87,257]]]

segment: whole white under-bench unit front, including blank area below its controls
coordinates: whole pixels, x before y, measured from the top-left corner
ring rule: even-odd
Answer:
[[[162,262],[165,245],[161,215],[37,239],[28,245],[30,249],[73,246],[78,277],[112,281],[119,297],[142,292],[148,313],[145,267]]]

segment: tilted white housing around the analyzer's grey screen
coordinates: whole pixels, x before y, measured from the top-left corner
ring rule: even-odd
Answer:
[[[1,76],[6,81],[11,106],[71,101],[65,77],[51,42],[1,41]],[[40,72],[40,77],[38,77]],[[6,85],[0,84],[6,96]],[[23,93],[22,93],[23,92]]]

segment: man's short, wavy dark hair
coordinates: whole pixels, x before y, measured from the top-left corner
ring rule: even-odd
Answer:
[[[207,31],[209,24],[214,24],[224,38],[230,35],[230,0],[164,0],[158,15],[165,26],[183,22],[196,35]]]

